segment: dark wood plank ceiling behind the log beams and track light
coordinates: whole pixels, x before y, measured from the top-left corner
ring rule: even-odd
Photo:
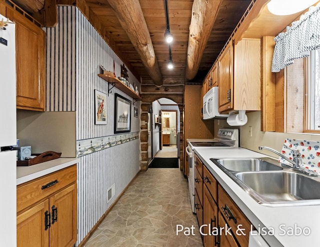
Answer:
[[[164,31],[166,28],[165,20],[165,9],[164,9],[164,0],[15,0],[16,3],[24,10],[29,12],[35,18],[36,16],[43,17],[46,11],[45,6],[48,4],[76,4],[82,11],[86,12],[89,15],[89,21],[96,27],[105,40],[107,40],[110,47],[118,54],[118,56],[124,61],[127,67],[132,71],[132,73],[142,80],[143,83],[152,83],[156,85],[161,85],[162,81],[156,81],[156,79],[163,80],[163,84],[183,84],[184,82],[200,83],[205,77],[206,73],[212,66],[214,60],[217,58],[220,50],[224,46],[225,42],[232,33],[234,27],[238,23],[239,19],[242,17],[243,13],[247,9],[251,0],[167,0],[168,1],[168,13],[169,13],[169,24],[170,31],[173,34],[174,40],[171,44],[172,50],[172,60],[174,63],[174,68],[169,70],[167,68],[167,61],[169,59],[168,45],[164,41]],[[255,0],[252,0],[255,1]],[[35,3],[39,4],[35,4]],[[52,3],[55,2],[55,3]],[[130,4],[127,6],[126,4]],[[111,7],[113,4],[113,7]],[[118,9],[115,9],[116,5],[122,5]],[[131,5],[132,4],[132,5]],[[135,5],[134,5],[135,4]],[[213,9],[216,9],[215,12]],[[37,7],[39,5],[39,7]],[[126,10],[126,20],[131,21],[131,23],[136,24],[135,29],[139,29],[142,24],[141,21],[135,21],[129,18],[136,15],[136,13],[141,13],[139,11],[139,5],[142,10],[143,16],[138,19],[144,18],[145,24],[147,26],[151,42],[154,49],[155,62],[158,66],[155,69],[150,70],[145,66],[147,59],[152,57],[152,51],[146,52],[146,56],[141,56],[141,50],[150,46],[150,44],[140,43],[137,44],[134,41],[132,44],[132,35],[125,31],[126,28],[123,28],[123,16],[122,23],[119,21],[118,17],[123,13],[123,10]],[[200,10],[196,7],[192,10],[192,5],[200,6]],[[214,7],[212,7],[212,5]],[[42,6],[44,8],[40,9]],[[50,6],[50,5],[49,5]],[[83,9],[83,7],[85,9]],[[197,18],[196,15],[200,16],[202,14],[201,8],[207,7],[211,9],[209,12],[212,14],[213,26],[212,28],[207,28],[205,25],[208,25],[208,22],[195,23],[195,29],[201,32],[202,30],[208,29],[209,33],[202,33],[200,36],[200,41],[196,40],[199,43],[200,49],[191,49],[191,50],[203,50],[201,44],[205,45],[203,55],[202,52],[198,54],[193,54],[191,65],[188,63],[189,69],[190,66],[195,68],[195,71],[192,71],[192,76],[194,78],[186,78],[186,72],[188,72],[188,77],[190,77],[190,71],[186,71],[187,64],[187,49],[188,49],[188,40],[189,40],[189,26],[191,21],[191,14],[193,17]],[[52,9],[52,8],[51,8]],[[122,11],[119,12],[119,9]],[[135,10],[137,9],[137,10]],[[114,11],[117,10],[117,11]],[[192,13],[192,11],[195,11]],[[136,13],[132,13],[136,12]],[[39,15],[40,13],[40,15]],[[206,11],[203,11],[205,18],[208,19]],[[125,14],[125,13],[123,13]],[[54,13],[53,15],[54,16]],[[92,17],[94,16],[94,17]],[[209,16],[210,17],[210,16]],[[44,14],[45,18],[45,14]],[[199,18],[200,19],[200,18]],[[41,21],[40,21],[41,22]],[[44,20],[45,22],[45,20]],[[142,21],[143,22],[143,21]],[[43,23],[43,21],[42,21]],[[127,23],[127,22],[126,22]],[[122,24],[122,26],[121,26]],[[194,23],[193,23],[194,24]],[[194,26],[193,26],[194,27]],[[194,29],[194,28],[193,28]],[[211,29],[211,31],[210,31]],[[143,35],[142,35],[143,34]],[[131,39],[129,38],[131,36]],[[147,40],[145,38],[148,35],[141,33],[141,40]],[[207,42],[205,38],[208,36]],[[151,46],[152,46],[151,45]],[[142,49],[137,50],[136,47],[142,47]],[[144,47],[145,46],[145,47]],[[146,48],[148,49],[148,48]],[[190,54],[189,54],[190,55]],[[200,60],[197,64],[199,66],[196,71],[196,66],[193,65],[194,60]],[[144,63],[143,63],[144,62]],[[148,61],[149,62],[149,61]],[[159,74],[160,76],[154,76],[154,74]],[[194,72],[194,73],[193,73]],[[152,75],[153,73],[153,75]],[[195,76],[194,76],[195,75]],[[153,78],[153,80],[152,80]]]

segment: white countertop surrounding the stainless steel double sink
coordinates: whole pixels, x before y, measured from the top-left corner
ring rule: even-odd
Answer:
[[[210,160],[210,158],[262,157],[267,155],[241,147],[194,147],[194,151],[256,228],[260,228],[261,232],[263,226],[274,229],[274,235],[262,235],[270,246],[319,245],[320,205],[280,207],[260,205]],[[283,226],[281,226],[282,224]],[[294,234],[295,226],[308,227],[310,234],[307,236]],[[285,234],[280,235],[284,232],[280,227],[285,230]],[[293,228],[293,235],[289,235],[289,227]]]

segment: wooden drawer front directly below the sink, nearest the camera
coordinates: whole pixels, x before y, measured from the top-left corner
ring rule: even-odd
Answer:
[[[225,221],[230,225],[232,229],[237,229],[238,225],[242,225],[245,235],[235,235],[235,238],[239,242],[240,246],[248,246],[250,221],[242,213],[241,209],[234,203],[230,196],[224,191],[221,185],[218,185],[218,206]],[[234,219],[232,218],[234,217]]]

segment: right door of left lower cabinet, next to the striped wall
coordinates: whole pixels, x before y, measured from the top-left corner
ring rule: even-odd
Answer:
[[[72,246],[76,241],[76,183],[50,197],[51,246]]]

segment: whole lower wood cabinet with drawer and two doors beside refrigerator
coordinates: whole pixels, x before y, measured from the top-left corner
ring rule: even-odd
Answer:
[[[17,186],[17,246],[73,246],[76,165]]]

